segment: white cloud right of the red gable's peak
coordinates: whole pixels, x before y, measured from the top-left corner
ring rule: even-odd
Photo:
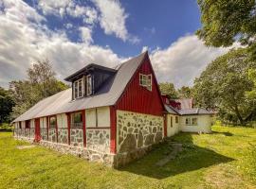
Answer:
[[[211,60],[228,51],[229,48],[207,47],[195,35],[188,35],[166,49],[156,48],[150,57],[158,81],[173,82],[179,88],[192,86],[193,79],[200,76]]]

